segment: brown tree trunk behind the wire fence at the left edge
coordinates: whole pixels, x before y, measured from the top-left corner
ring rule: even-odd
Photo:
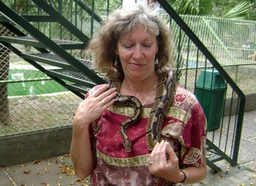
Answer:
[[[0,26],[0,36],[8,34],[8,31]],[[8,84],[4,83],[9,76],[9,49],[0,44],[0,125],[9,125],[9,100]]]

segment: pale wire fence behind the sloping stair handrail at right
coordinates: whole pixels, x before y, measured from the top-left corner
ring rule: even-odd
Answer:
[[[194,15],[182,15],[182,18],[244,94],[255,93],[256,21]],[[200,71],[211,69],[212,64],[174,21],[170,28],[177,47],[176,67],[182,73],[179,83],[194,91]],[[232,89],[228,89],[227,94],[230,96]]]

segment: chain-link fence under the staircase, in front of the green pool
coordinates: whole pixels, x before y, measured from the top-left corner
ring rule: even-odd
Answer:
[[[0,32],[9,34],[3,26]],[[81,98],[2,44],[0,61],[0,137],[72,125]]]

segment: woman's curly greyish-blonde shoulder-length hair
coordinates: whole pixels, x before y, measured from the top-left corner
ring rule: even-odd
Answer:
[[[119,57],[114,50],[121,36],[130,33],[137,25],[143,25],[145,31],[154,34],[158,43],[157,71],[166,71],[171,67],[172,43],[170,30],[160,18],[160,9],[136,4],[126,9],[117,9],[102,23],[96,36],[90,40],[89,51],[93,58],[92,67],[107,79],[122,80],[124,73],[119,64]]]

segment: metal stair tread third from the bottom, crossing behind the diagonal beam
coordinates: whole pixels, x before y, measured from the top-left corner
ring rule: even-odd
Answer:
[[[35,38],[26,36],[0,36],[0,41],[5,43],[23,44],[26,46],[32,46],[41,49],[48,49],[48,46],[39,42]],[[63,49],[84,49],[85,44],[79,41],[67,41],[61,39],[53,39],[55,44],[59,44]]]

